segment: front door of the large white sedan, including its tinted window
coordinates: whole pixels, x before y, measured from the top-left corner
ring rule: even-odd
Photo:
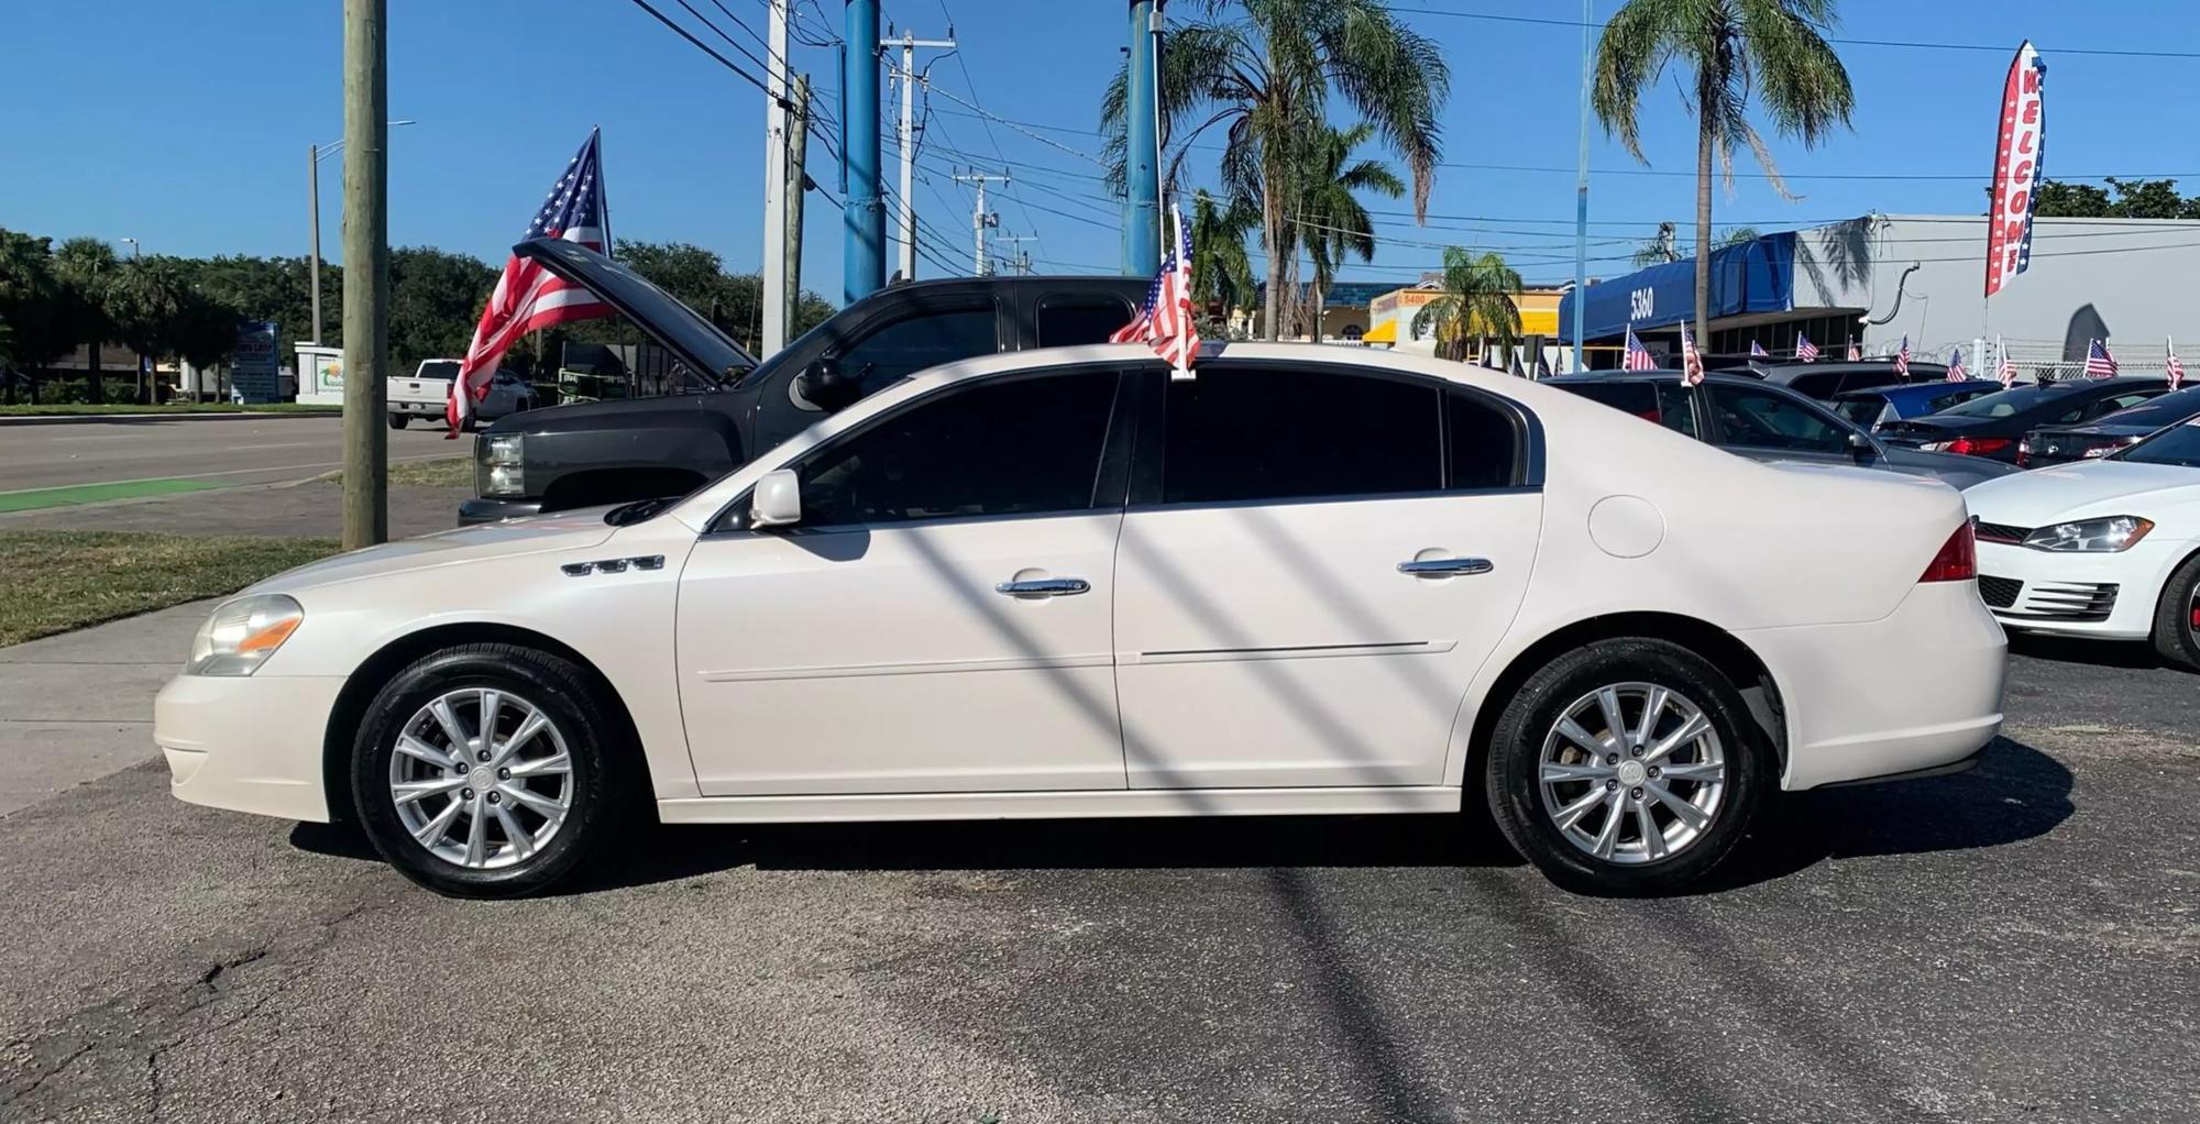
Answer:
[[[957,383],[788,464],[796,526],[746,530],[735,504],[680,581],[702,792],[1122,787],[1118,383]]]

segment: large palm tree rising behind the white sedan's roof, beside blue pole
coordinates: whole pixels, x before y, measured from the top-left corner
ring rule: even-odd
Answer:
[[[1397,22],[1384,0],[1203,0],[1206,20],[1177,24],[1162,44],[1162,139],[1177,152],[1164,174],[1177,178],[1184,150],[1223,125],[1223,187],[1258,200],[1267,251],[1267,337],[1283,328],[1287,266],[1298,255],[1291,187],[1305,139],[1327,121],[1335,90],[1406,161],[1412,213],[1428,213],[1437,178],[1437,112],[1452,88],[1445,51]],[[1236,18],[1223,18],[1234,11]],[[1124,154],[1126,73],[1100,101],[1109,154]],[[1118,174],[1120,180],[1120,174]]]

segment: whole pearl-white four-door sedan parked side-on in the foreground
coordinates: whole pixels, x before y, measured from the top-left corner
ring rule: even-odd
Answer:
[[[1962,497],[1459,363],[1100,345],[906,378],[680,499],[343,554],[213,611],[176,796],[444,893],[623,820],[1461,812],[1575,891],[2000,728]]]

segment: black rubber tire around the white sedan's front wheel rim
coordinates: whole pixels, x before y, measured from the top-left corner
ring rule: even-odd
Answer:
[[[557,724],[565,741],[572,770],[565,818],[535,853],[506,867],[475,869],[436,856],[398,818],[389,790],[405,724],[438,695],[460,688],[519,695]],[[462,644],[416,660],[367,706],[352,746],[352,807],[367,840],[407,878],[453,897],[517,897],[550,889],[612,849],[647,790],[640,752],[581,669],[515,644]],[[519,805],[506,809],[517,814]],[[471,823],[466,812],[460,818]]]

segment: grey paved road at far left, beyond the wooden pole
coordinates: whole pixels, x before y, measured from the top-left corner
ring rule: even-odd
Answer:
[[[473,453],[440,427],[389,431],[389,460]],[[339,469],[341,418],[117,418],[0,427],[0,493],[125,480],[268,484]]]

